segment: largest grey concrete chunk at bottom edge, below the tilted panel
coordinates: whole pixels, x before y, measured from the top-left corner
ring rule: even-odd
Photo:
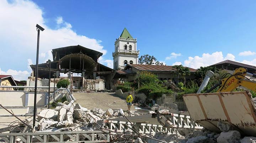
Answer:
[[[237,143],[240,140],[240,132],[239,131],[228,131],[221,132],[220,136],[217,138],[218,143]]]

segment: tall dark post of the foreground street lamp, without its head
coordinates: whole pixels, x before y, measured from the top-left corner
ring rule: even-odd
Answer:
[[[35,79],[35,90],[34,90],[33,128],[34,128],[35,123],[36,123],[36,100],[37,100],[37,77],[38,77],[39,35],[40,35],[40,30],[37,29],[37,58],[36,58],[36,79]]]

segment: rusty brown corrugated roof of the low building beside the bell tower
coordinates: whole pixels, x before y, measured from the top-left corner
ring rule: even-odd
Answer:
[[[145,64],[128,64],[130,67],[137,68],[139,70],[146,71],[176,71],[173,66],[170,65],[145,65]],[[196,69],[188,68],[190,72],[196,72]]]

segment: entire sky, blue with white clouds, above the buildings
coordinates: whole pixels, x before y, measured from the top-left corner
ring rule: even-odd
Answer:
[[[46,28],[39,63],[52,58],[52,48],[79,44],[103,52],[100,62],[112,67],[114,40],[126,27],[137,38],[140,56],[154,55],[167,65],[199,68],[225,59],[256,65],[255,7],[250,0],[3,0],[0,60],[9,62],[0,64],[0,72],[17,79],[30,74],[36,23]]]

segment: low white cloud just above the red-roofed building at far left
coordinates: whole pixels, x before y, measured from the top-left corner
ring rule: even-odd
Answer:
[[[17,71],[17,70],[12,70],[12,69],[8,69],[7,71],[2,71],[0,68],[0,75],[12,75],[12,77],[14,78],[14,80],[27,80],[28,76],[30,76],[31,73],[29,73],[28,71]]]

